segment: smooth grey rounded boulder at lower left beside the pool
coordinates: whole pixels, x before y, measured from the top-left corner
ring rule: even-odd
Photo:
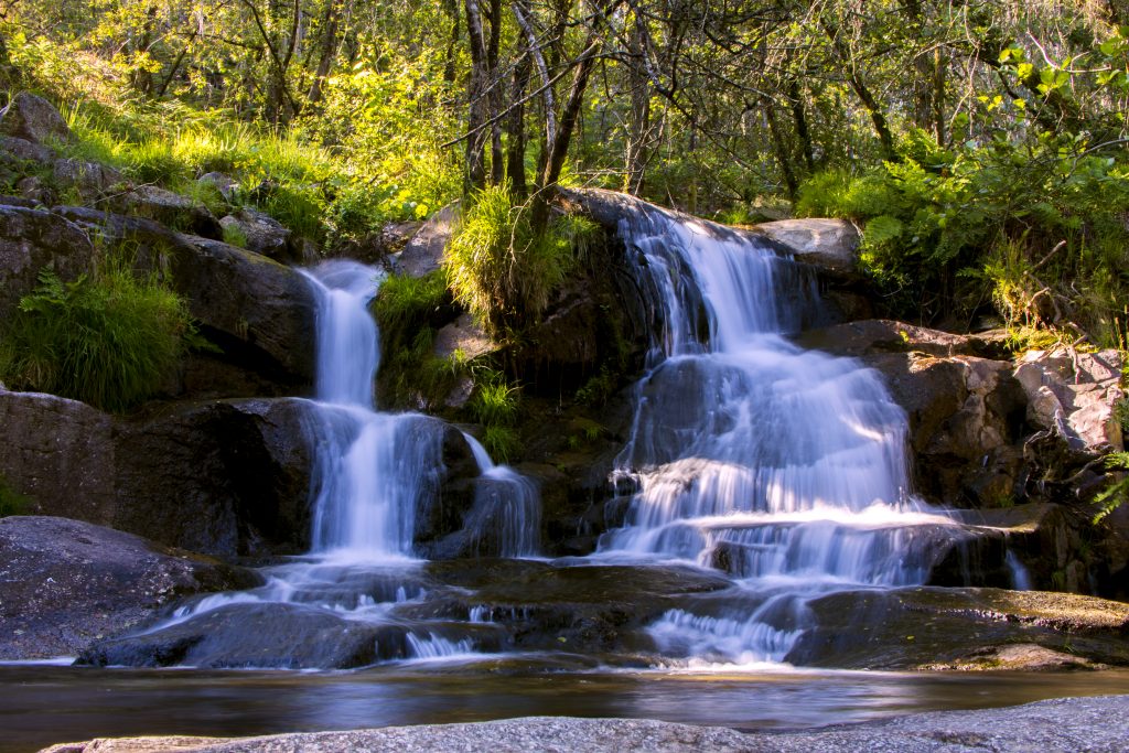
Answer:
[[[0,518],[0,659],[73,655],[176,598],[257,581],[251,571],[88,523]]]

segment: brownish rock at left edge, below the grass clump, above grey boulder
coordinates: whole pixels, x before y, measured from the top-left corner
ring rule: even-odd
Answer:
[[[30,498],[35,514],[113,524],[110,415],[65,397],[0,388],[0,475]]]

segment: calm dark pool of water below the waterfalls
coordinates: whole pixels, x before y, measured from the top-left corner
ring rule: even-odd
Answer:
[[[508,663],[348,673],[0,666],[0,751],[124,735],[262,735],[523,716],[802,728],[1129,692],[1075,673],[550,672]]]

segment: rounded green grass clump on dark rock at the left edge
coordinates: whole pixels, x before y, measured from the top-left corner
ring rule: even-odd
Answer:
[[[16,388],[125,411],[159,392],[193,334],[181,298],[123,264],[73,282],[44,270],[5,326],[0,375]]]

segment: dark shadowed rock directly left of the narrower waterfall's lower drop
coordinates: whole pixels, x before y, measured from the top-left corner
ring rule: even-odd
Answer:
[[[114,526],[209,554],[309,549],[305,404],[173,404],[115,431]]]

